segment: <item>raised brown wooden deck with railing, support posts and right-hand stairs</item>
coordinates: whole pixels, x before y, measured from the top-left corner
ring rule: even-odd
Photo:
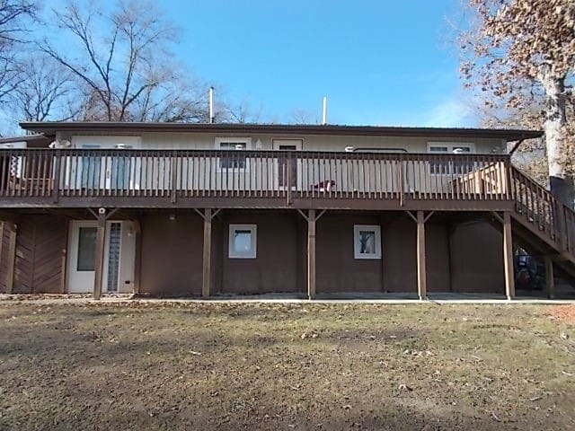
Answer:
[[[99,223],[99,253],[105,221],[117,209],[196,209],[204,219],[206,297],[211,223],[222,208],[298,210],[308,224],[310,298],[315,295],[315,224],[329,209],[406,211],[417,224],[420,299],[427,296],[425,224],[434,211],[491,214],[503,234],[508,298],[515,288],[514,239],[544,255],[549,292],[553,265],[575,277],[575,213],[513,167],[505,154],[0,150],[0,211],[8,221],[9,255],[16,235],[13,214],[24,208],[90,209]],[[8,266],[13,272],[13,262]],[[94,295],[99,297],[101,262],[96,267]]]

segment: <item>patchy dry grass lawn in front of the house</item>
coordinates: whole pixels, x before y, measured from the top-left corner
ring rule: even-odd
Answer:
[[[0,303],[0,429],[575,429],[553,306]]]

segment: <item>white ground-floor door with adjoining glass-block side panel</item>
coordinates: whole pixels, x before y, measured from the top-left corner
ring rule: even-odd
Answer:
[[[68,292],[93,293],[96,258],[95,221],[70,224],[68,251]],[[135,241],[131,222],[106,222],[103,264],[103,292],[131,292],[134,283]]]

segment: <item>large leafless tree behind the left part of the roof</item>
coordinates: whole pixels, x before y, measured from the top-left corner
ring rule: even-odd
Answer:
[[[65,66],[88,89],[86,118],[107,121],[188,121],[199,118],[198,100],[174,65],[176,39],[155,4],[119,0],[111,10],[71,2],[53,11],[61,35],[78,45],[72,56],[50,40],[40,50]],[[179,89],[180,88],[180,89]]]

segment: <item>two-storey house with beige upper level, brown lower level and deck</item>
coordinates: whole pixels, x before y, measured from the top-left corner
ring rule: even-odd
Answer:
[[[575,276],[575,215],[510,163],[538,131],[26,122],[0,150],[0,291],[515,295]],[[36,144],[39,138],[34,138]]]

